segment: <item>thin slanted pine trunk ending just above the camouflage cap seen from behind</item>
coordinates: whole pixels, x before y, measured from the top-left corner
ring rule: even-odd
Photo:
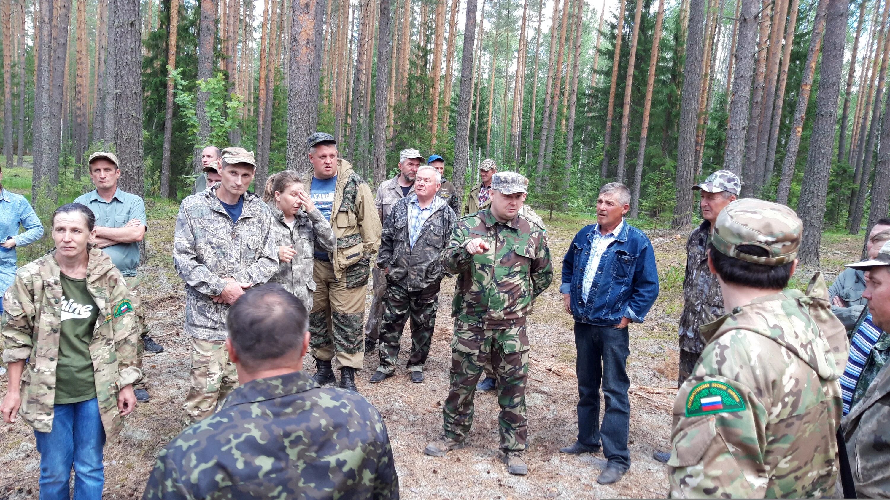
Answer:
[[[816,18],[813,20],[813,34],[810,36],[810,48],[806,53],[804,75],[801,79],[800,90],[797,93],[797,107],[794,110],[794,121],[791,123],[788,146],[785,147],[785,160],[781,165],[781,180],[779,181],[779,188],[776,192],[776,202],[783,204],[788,203],[788,194],[791,190],[791,179],[794,178],[794,170],[797,163],[797,151],[800,148],[800,136],[804,132],[806,105],[810,101],[810,91],[813,90],[813,75],[815,75],[816,72],[816,60],[819,59],[822,34],[826,28],[828,7],[829,0],[819,0],[819,4],[816,7]]]

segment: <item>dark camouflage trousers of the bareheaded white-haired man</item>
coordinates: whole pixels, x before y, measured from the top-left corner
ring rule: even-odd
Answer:
[[[409,291],[392,281],[386,284],[384,313],[380,318],[380,366],[377,371],[387,375],[395,373],[399,359],[401,333],[405,321],[411,318],[411,353],[409,371],[424,371],[426,356],[433,342],[436,312],[439,310],[440,283],[424,290]]]

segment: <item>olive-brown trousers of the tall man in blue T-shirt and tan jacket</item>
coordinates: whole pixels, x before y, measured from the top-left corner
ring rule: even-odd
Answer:
[[[334,277],[330,262],[315,260],[312,269],[315,292],[309,313],[309,346],[312,356],[321,361],[336,358],[344,367],[361,369],[365,345],[361,325],[365,321],[366,279],[361,286],[352,286],[344,275]]]

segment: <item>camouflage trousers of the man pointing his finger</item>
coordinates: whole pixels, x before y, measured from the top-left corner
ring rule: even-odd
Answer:
[[[498,379],[498,426],[500,448],[526,448],[528,418],[525,384],[529,377],[529,340],[526,327],[484,329],[455,320],[451,341],[451,371],[448,399],[442,407],[445,437],[462,441],[473,426],[473,396],[476,384],[491,361]]]

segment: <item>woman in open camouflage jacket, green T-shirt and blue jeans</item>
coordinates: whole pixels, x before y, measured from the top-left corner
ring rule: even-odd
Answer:
[[[69,203],[52,221],[56,249],[22,266],[4,296],[0,409],[34,428],[41,498],[68,498],[72,467],[75,498],[99,498],[105,439],[136,403],[139,334],[124,277],[90,242],[93,212]]]

